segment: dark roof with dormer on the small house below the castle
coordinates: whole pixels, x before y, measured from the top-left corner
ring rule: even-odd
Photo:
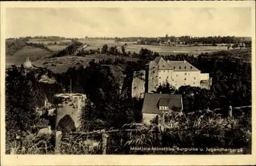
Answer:
[[[169,107],[182,107],[182,96],[179,94],[157,94],[157,93],[145,93],[142,113],[146,114],[162,114],[162,111],[158,109],[158,104],[166,104],[168,102]],[[165,106],[165,105],[162,105]]]

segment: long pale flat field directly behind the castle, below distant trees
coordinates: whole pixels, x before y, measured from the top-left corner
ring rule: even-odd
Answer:
[[[188,53],[198,55],[201,52],[210,52],[218,50],[227,50],[225,46],[187,46],[187,45],[178,45],[178,46],[159,46],[159,45],[128,45],[125,50],[131,52],[139,52],[141,47],[150,49],[154,52],[158,52],[163,55],[168,54],[178,54],[178,53]]]

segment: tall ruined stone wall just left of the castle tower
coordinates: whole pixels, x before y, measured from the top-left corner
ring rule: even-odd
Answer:
[[[145,94],[145,70],[134,72],[132,82],[132,97],[144,98]]]

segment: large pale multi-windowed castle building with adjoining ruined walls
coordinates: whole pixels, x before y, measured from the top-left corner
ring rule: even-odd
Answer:
[[[209,89],[211,86],[209,74],[201,73],[187,61],[165,61],[162,57],[157,57],[146,64],[145,71],[140,71],[140,73],[144,74],[141,76],[143,79],[134,79],[132,97],[141,97],[144,93],[156,92],[159,86],[167,82],[175,89],[181,86]],[[144,85],[144,89],[141,85]]]

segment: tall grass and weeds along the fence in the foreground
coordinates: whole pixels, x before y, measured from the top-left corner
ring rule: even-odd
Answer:
[[[222,117],[211,110],[165,115],[165,130],[156,123],[124,125],[109,133],[107,154],[251,154],[251,110],[243,110],[235,117]],[[134,129],[124,131],[125,129]],[[17,154],[53,154],[51,137],[34,137],[17,147]],[[93,143],[96,145],[93,146]],[[133,147],[165,150],[135,150]],[[179,149],[178,149],[179,148]],[[183,149],[182,148],[187,148]],[[189,149],[188,149],[189,148]],[[191,150],[198,148],[198,151]],[[206,148],[227,148],[228,151],[207,151]],[[237,149],[239,151],[230,151]],[[102,154],[101,134],[68,134],[61,142],[61,154]]]

